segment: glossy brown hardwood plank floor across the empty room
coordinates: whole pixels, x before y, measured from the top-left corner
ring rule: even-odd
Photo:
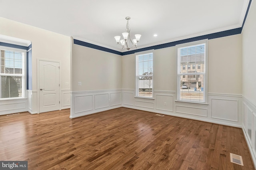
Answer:
[[[127,108],[69,115],[0,116],[0,160],[27,160],[29,170],[254,169],[240,128]],[[230,152],[244,166],[231,163]]]

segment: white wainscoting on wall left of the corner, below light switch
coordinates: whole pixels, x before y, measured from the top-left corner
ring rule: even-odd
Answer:
[[[122,89],[70,92],[70,119],[122,107]]]

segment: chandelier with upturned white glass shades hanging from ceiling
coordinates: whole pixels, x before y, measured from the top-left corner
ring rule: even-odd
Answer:
[[[120,40],[121,36],[115,36],[114,38],[116,39],[116,43],[122,46],[122,49],[131,49],[136,47],[136,45],[138,44],[138,42],[140,41],[140,34],[135,34],[135,39],[131,39],[130,38],[130,29],[129,29],[129,20],[131,19],[131,17],[126,17],[125,18],[127,20],[126,23],[126,32],[123,32],[122,35],[124,37],[123,40]],[[129,44],[131,43],[131,44]],[[136,47],[137,48],[137,47]]]

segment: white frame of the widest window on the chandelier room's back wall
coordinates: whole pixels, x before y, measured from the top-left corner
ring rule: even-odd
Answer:
[[[205,43],[205,85],[204,85],[204,89],[203,89],[204,90],[204,101],[198,102],[198,101],[181,100],[180,99],[180,90],[179,90],[180,80],[179,80],[179,74],[178,74],[178,48],[192,46],[192,45],[198,45],[198,44],[202,44],[202,43]],[[208,104],[208,39],[176,45],[176,89],[177,89],[177,93],[176,93],[177,101],[179,101],[179,102]],[[193,90],[193,89],[191,89],[191,90]]]

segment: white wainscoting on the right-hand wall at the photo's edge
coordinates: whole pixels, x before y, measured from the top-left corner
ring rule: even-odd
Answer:
[[[250,150],[254,166],[256,167],[256,105],[243,97],[242,129]]]

